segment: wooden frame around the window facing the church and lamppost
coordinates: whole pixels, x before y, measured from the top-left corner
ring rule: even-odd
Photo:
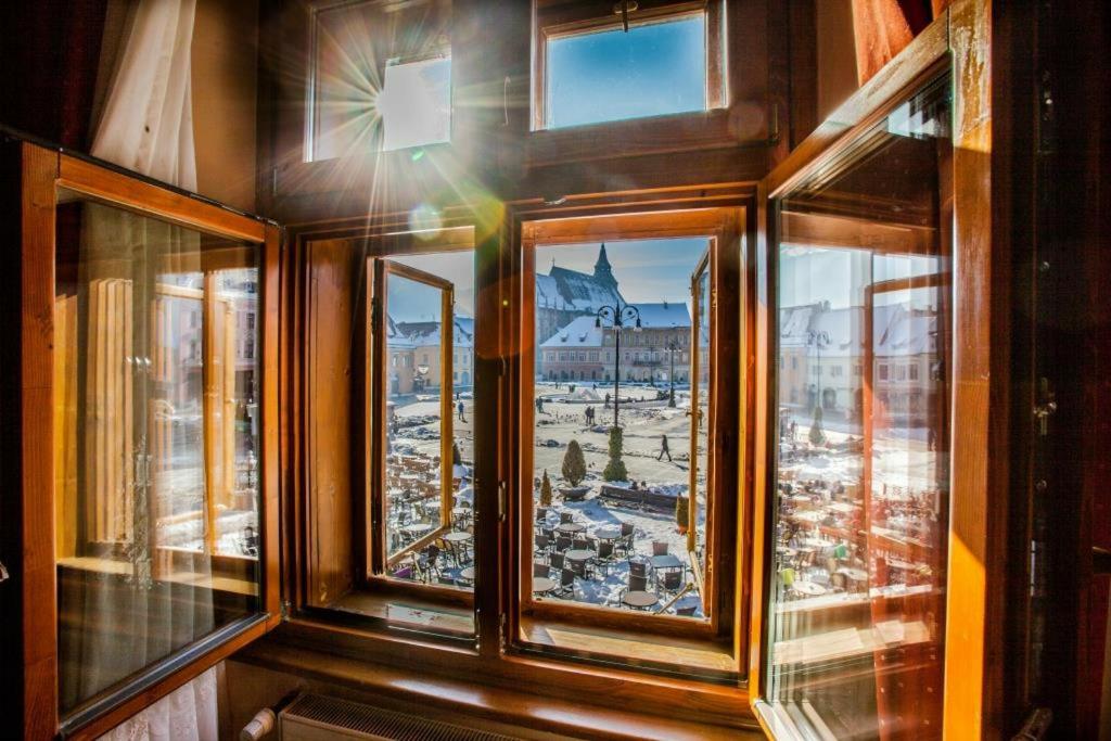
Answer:
[[[517,382],[513,387],[512,423],[519,425],[513,439],[521,444],[513,452],[517,475],[512,478],[513,491],[510,495],[511,517],[516,523],[510,539],[509,562],[513,573],[508,580],[509,590],[509,631],[514,637],[512,643],[520,650],[540,651],[548,654],[567,657],[568,652],[553,650],[524,638],[524,624],[529,622],[562,622],[573,623],[584,628],[603,628],[615,631],[641,632],[645,634],[672,637],[677,639],[693,639],[715,642],[728,647],[734,658],[734,678],[743,674],[742,654],[745,647],[742,637],[747,635],[747,610],[738,601],[740,594],[747,592],[747,585],[740,583],[738,575],[741,570],[735,564],[747,562],[747,542],[744,534],[748,522],[744,513],[748,511],[749,490],[737,482],[744,481],[742,471],[745,468],[744,430],[748,428],[748,408],[741,398],[742,389],[747,387],[745,363],[742,361],[748,351],[744,340],[748,319],[742,317],[742,307],[748,306],[748,292],[743,279],[743,266],[747,264],[745,210],[743,207],[722,207],[703,209],[684,209],[672,211],[622,212],[619,209],[608,210],[599,214],[582,212],[550,218],[522,219],[518,224],[519,246],[514,250],[516,266],[511,284],[514,286],[516,299],[510,308],[516,320],[512,334],[507,338],[514,352],[513,373]],[[553,217],[553,218],[552,218]],[[708,260],[712,271],[711,286],[711,343],[727,358],[737,360],[737,368],[729,363],[714,363],[710,383],[711,419],[708,422],[711,439],[722,441],[713,455],[708,455],[711,467],[707,475],[708,487],[708,523],[707,533],[709,564],[707,582],[709,583],[708,621],[677,618],[674,615],[642,614],[629,610],[613,610],[595,605],[573,602],[538,601],[532,599],[532,468],[531,443],[533,428],[533,383],[534,383],[534,292],[536,283],[536,249],[544,244],[595,243],[599,241],[619,241],[629,239],[668,239],[682,237],[704,237],[711,242]],[[735,250],[733,247],[735,246]],[[734,291],[719,291],[720,286],[734,286]],[[734,321],[721,322],[722,317],[737,317]],[[693,330],[692,330],[693,331]],[[727,378],[740,378],[740,384],[724,383]],[[735,391],[735,393],[734,393]],[[717,403],[714,403],[717,402]],[[715,414],[713,409],[718,403],[729,408],[738,408],[735,417]],[[735,495],[729,495],[729,492]],[[693,508],[692,508],[693,509]],[[735,535],[731,538],[730,535]],[[727,553],[725,543],[733,542],[737,551]],[[720,568],[715,567],[720,563]],[[594,655],[580,658],[600,659]],[[609,658],[612,661],[612,657]],[[651,659],[645,662],[651,663]],[[680,670],[680,673],[684,673]],[[685,672],[697,675],[698,672]]]

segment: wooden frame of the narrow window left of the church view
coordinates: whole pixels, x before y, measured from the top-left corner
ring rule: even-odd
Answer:
[[[343,471],[333,471],[334,463],[324,461],[316,462],[317,453],[314,448],[317,434],[313,430],[321,425],[331,429],[332,421],[324,418],[317,418],[316,409],[302,411],[298,419],[292,420],[294,427],[303,428],[303,442],[298,450],[298,455],[304,461],[303,478],[292,482],[291,507],[300,512],[303,524],[291,531],[298,533],[297,539],[289,543],[291,549],[291,569],[288,571],[288,589],[296,595],[296,601],[291,605],[294,610],[303,611],[306,617],[313,619],[332,621],[337,619],[339,612],[349,614],[348,622],[376,631],[381,628],[389,628],[390,620],[384,615],[358,614],[351,617],[348,610],[340,610],[332,603],[343,593],[357,593],[367,595],[371,600],[381,598],[389,600],[403,598],[413,600],[417,607],[428,607],[434,609],[437,605],[444,608],[466,609],[473,611],[474,595],[471,590],[463,590],[456,587],[442,584],[424,584],[409,582],[403,579],[396,579],[386,573],[389,564],[389,555],[386,552],[384,538],[384,497],[386,491],[386,397],[384,367],[381,363],[389,362],[389,353],[386,351],[386,337],[382,331],[373,331],[376,327],[381,327],[384,322],[384,312],[376,308],[380,297],[386,293],[386,263],[394,257],[412,257],[422,253],[442,253],[477,251],[474,223],[466,214],[446,213],[441,233],[432,240],[422,239],[412,231],[408,223],[408,213],[394,213],[383,216],[373,224],[367,224],[363,220],[352,223],[328,223],[319,226],[306,226],[294,228],[294,244],[291,252],[290,273],[296,276],[299,287],[291,287],[292,292],[308,291],[311,296],[311,286],[314,282],[312,277],[313,260],[312,251],[314,247],[336,249],[351,254],[351,269],[359,271],[358,283],[364,286],[366,290],[361,296],[350,296],[351,303],[350,334],[357,338],[358,342],[350,348],[350,357],[343,362],[350,372],[349,388],[347,390],[349,401],[343,402],[349,408],[351,420],[340,424],[343,430],[334,440],[327,444],[342,444],[344,458]],[[391,269],[400,274],[406,272],[406,267],[400,263],[392,263]],[[293,361],[292,374],[287,375],[287,393],[292,393],[294,399],[306,400],[311,395],[313,378],[318,373],[317,360],[313,346],[317,338],[311,328],[316,327],[314,312],[311,298],[299,300],[300,306],[291,306],[290,310],[299,314],[296,337],[290,346],[290,358]],[[441,307],[441,310],[443,307]],[[376,316],[378,314],[378,316]],[[477,318],[476,318],[477,320]],[[344,330],[346,331],[346,330]],[[344,344],[347,339],[343,339]],[[441,349],[443,352],[443,349]],[[441,361],[441,373],[448,370],[447,380],[450,381],[450,370],[452,363],[451,353],[453,347],[447,346],[447,363]],[[381,362],[377,362],[380,358]],[[473,375],[473,369],[471,369]],[[330,379],[323,378],[322,382],[334,385]],[[443,380],[441,380],[441,383]],[[303,404],[303,401],[294,403]],[[444,410],[450,417],[450,399],[442,400]],[[327,404],[324,404],[327,405]],[[316,404],[314,407],[321,407]],[[441,413],[443,413],[443,411]],[[324,411],[327,414],[327,410]],[[478,430],[476,430],[478,434]],[[451,461],[451,439],[441,440],[441,461],[447,461],[447,473],[450,481]],[[447,458],[444,459],[444,452]],[[329,469],[324,474],[332,477],[326,479],[321,475],[321,465]],[[341,511],[334,512],[337,522],[329,524],[330,517],[322,514],[321,502],[316,501],[312,492],[321,488],[343,488],[348,490],[351,500],[350,508],[343,505]],[[476,492],[478,495],[478,492]],[[450,487],[446,491],[446,497],[450,501]],[[441,509],[441,517],[450,517],[451,508]],[[322,527],[338,528],[350,535],[350,542],[336,542],[339,539],[330,537],[327,532],[318,531],[317,522],[322,522]],[[432,542],[438,531],[426,535],[421,541]],[[482,534],[476,528],[474,542],[480,542]],[[417,543],[420,545],[421,541]],[[424,543],[427,544],[427,543]],[[411,550],[411,547],[410,549]],[[343,565],[338,565],[343,563]],[[342,572],[350,571],[350,585],[344,589]],[[337,573],[341,575],[337,578]],[[328,601],[314,598],[321,590],[329,594]],[[356,611],[358,612],[358,610]],[[437,633],[430,630],[429,635]],[[458,632],[444,634],[450,640],[464,639],[472,640],[473,631],[466,635]]]

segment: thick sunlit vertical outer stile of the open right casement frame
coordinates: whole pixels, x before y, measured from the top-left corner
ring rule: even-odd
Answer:
[[[953,444],[950,492],[949,592],[945,615],[945,734],[994,735],[1002,677],[992,638],[1002,624],[1005,459],[992,437],[993,397],[1007,382],[999,364],[1005,338],[992,312],[991,3],[950,7],[953,86]],[[1001,477],[1001,479],[1000,479]],[[1002,495],[1002,497],[1001,497]],[[1001,530],[1002,528],[1002,530]],[[993,597],[994,595],[994,597]]]

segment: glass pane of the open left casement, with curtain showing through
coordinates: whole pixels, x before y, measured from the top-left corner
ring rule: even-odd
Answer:
[[[258,254],[61,191],[62,711],[256,612]]]

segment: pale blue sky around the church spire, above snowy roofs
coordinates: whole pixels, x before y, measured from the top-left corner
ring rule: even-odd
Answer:
[[[632,303],[683,302],[690,308],[691,273],[710,240],[642,239],[605,242],[621,296]],[[541,247],[537,272],[547,274],[556,259],[560,268],[594,272],[599,242]]]

